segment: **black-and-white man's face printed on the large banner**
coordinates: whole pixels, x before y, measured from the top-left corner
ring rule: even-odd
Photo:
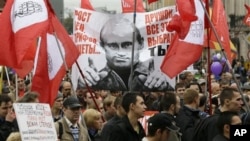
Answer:
[[[112,26],[107,27],[110,30],[105,30],[102,34],[108,65],[113,69],[129,69],[132,63],[131,53],[133,46],[133,27],[131,23],[126,21],[118,24],[111,23],[106,26]],[[140,48],[141,45],[135,40],[134,64],[139,61]]]

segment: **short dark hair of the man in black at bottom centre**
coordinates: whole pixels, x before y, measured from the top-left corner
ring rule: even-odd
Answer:
[[[125,95],[123,96],[122,99],[122,107],[125,110],[126,113],[129,112],[129,107],[130,104],[135,104],[137,101],[137,96],[141,95],[139,93],[135,93],[135,92],[126,92]]]

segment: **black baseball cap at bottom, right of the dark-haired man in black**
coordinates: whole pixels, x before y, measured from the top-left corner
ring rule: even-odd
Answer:
[[[178,131],[179,127],[175,126],[170,118],[164,113],[155,114],[148,119],[148,130],[167,128],[171,131]]]

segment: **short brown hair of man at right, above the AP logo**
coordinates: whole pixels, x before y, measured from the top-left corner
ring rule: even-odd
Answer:
[[[226,99],[231,100],[233,98],[234,92],[239,92],[239,91],[231,87],[226,87],[222,90],[221,94],[219,95],[221,106],[224,105]]]

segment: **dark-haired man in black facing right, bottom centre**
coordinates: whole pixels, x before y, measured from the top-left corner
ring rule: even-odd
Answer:
[[[128,92],[122,100],[122,107],[127,113],[117,126],[111,129],[108,141],[141,141],[145,137],[145,131],[138,121],[144,116],[146,105],[143,98],[137,94]]]

